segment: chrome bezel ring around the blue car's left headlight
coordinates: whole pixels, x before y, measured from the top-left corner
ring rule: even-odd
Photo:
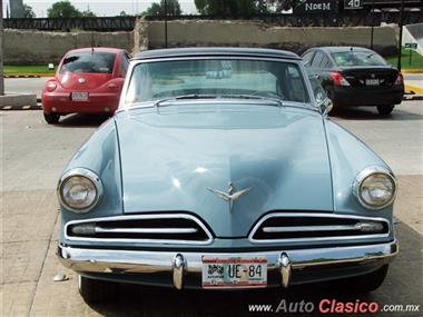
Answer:
[[[94,185],[94,187],[96,189],[96,197],[89,206],[83,207],[83,208],[76,208],[76,207],[70,206],[66,201],[66,199],[63,197],[63,186],[72,177],[86,178]],[[97,206],[98,201],[102,197],[102,194],[104,194],[104,187],[102,187],[101,179],[94,171],[86,169],[86,168],[73,168],[73,169],[67,171],[66,174],[63,174],[61,176],[59,184],[57,186],[57,196],[59,198],[60,205],[63,208],[66,208],[67,210],[70,210],[70,211],[77,212],[77,214],[83,214],[83,212],[90,211],[94,207]]]

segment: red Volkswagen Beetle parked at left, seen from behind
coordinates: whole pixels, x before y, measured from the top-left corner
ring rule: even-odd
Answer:
[[[119,105],[130,56],[121,49],[85,48],[67,52],[42,89],[48,123],[69,113],[109,113]]]

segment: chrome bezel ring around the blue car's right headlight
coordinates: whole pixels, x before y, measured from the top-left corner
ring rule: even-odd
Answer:
[[[361,195],[362,185],[363,185],[364,180],[366,180],[368,177],[375,176],[375,175],[383,175],[393,185],[393,194],[392,194],[390,200],[387,200],[385,204],[380,205],[380,206],[374,206],[374,205],[367,204]],[[381,209],[384,209],[384,208],[391,206],[395,200],[396,191],[397,191],[397,182],[396,182],[396,179],[395,179],[393,172],[391,170],[388,170],[384,167],[380,167],[380,166],[372,166],[372,167],[367,167],[367,168],[363,169],[361,172],[358,172],[356,175],[356,177],[353,181],[353,194],[354,194],[354,196],[357,198],[357,200],[360,201],[360,204],[362,206],[364,206],[365,208],[371,209],[371,210],[381,210]]]

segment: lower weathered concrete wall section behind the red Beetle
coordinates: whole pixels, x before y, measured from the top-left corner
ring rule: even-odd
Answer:
[[[115,47],[131,51],[132,32],[41,32],[4,30],[4,65],[57,65],[70,49]]]

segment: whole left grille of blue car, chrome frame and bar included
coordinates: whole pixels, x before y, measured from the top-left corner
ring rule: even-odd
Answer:
[[[65,226],[69,240],[97,240],[148,244],[198,244],[213,240],[212,232],[188,214],[118,216],[69,221]]]

